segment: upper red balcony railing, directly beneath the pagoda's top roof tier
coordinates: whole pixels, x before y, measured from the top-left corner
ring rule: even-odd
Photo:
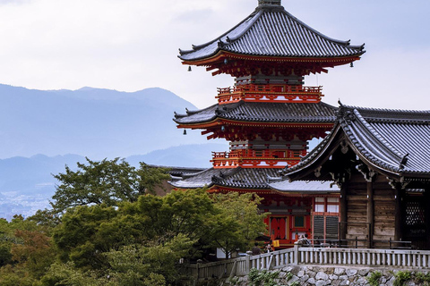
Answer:
[[[254,85],[218,88],[219,104],[234,103],[240,100],[250,102],[320,102],[323,87],[304,87],[290,85]]]

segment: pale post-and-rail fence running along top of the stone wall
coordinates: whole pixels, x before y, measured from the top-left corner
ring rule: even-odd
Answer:
[[[403,269],[430,267],[430,251],[366,248],[294,248],[207,264],[187,265],[196,279],[244,276],[250,269],[276,270],[288,265],[366,266]]]

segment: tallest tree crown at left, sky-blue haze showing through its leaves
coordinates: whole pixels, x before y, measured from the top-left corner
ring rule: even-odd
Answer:
[[[169,178],[167,169],[143,163],[136,169],[119,158],[99,162],[86,160],[86,164],[77,163],[76,172],[66,165],[64,173],[54,175],[61,182],[51,202],[55,213],[63,213],[73,206],[117,206],[122,201],[134,202],[139,196],[154,192]]]

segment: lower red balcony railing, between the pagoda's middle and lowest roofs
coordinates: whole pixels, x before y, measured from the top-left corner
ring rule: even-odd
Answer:
[[[215,168],[232,167],[262,167],[285,168],[300,161],[306,150],[253,150],[242,149],[231,152],[212,152],[213,166]]]

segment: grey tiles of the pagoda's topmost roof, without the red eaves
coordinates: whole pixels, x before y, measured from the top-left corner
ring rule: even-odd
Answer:
[[[240,55],[279,57],[347,57],[365,53],[363,46],[328,38],[278,5],[260,5],[251,15],[219,38],[182,51],[184,61],[195,61],[227,51]]]

